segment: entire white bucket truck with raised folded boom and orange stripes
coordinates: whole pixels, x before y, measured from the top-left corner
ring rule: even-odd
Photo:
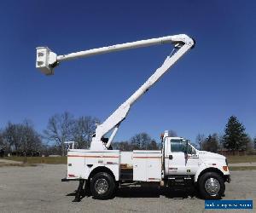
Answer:
[[[216,153],[196,150],[188,140],[171,137],[168,131],[161,135],[161,150],[121,152],[112,150],[111,147],[113,137],[131,105],[195,46],[192,38],[184,34],[159,37],[68,55],[56,55],[47,47],[39,47],[36,66],[44,74],[52,75],[54,67],[63,60],[165,43],[174,44],[172,54],[167,56],[160,68],[131,97],[102,124],[97,125],[90,149],[68,149],[67,177],[62,181],[79,181],[75,200],[79,201],[84,190],[91,193],[95,199],[109,199],[120,184],[132,181],[159,184],[162,187],[195,186],[204,199],[220,199],[224,195],[224,182],[230,182],[227,158]],[[106,138],[105,135],[110,131],[112,134]]]

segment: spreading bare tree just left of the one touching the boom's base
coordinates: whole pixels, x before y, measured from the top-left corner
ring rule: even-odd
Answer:
[[[50,117],[47,128],[44,130],[44,137],[61,149],[62,156],[65,154],[64,142],[73,139],[73,126],[73,115],[69,112],[63,112]]]

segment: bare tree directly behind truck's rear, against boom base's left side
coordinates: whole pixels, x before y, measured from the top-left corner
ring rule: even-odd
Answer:
[[[98,118],[91,118],[90,116],[82,116],[75,120],[73,125],[73,141],[76,141],[76,147],[89,148],[91,137],[98,123],[100,123]]]

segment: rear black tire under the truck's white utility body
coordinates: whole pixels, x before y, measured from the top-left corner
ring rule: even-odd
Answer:
[[[107,172],[96,173],[90,181],[90,192],[93,199],[111,199],[114,190],[115,181]]]

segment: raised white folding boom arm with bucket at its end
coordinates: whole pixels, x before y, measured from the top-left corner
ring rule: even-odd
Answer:
[[[142,48],[151,45],[163,44],[163,43],[174,43],[178,48],[177,52],[174,55],[167,56],[166,60],[158,68],[154,74],[148,78],[148,80],[143,83],[143,85],[137,89],[137,91],[131,95],[131,97],[126,100],[113,114],[111,114],[102,124],[97,125],[96,133],[92,138],[90,149],[93,150],[102,150],[108,149],[111,142],[113,141],[114,135],[116,135],[117,130],[119,129],[119,124],[126,118],[127,113],[130,110],[131,105],[138,100],[138,98],[143,95],[148,89],[156,83],[160,77],[163,76],[172,65],[180,59],[189,49],[193,48],[195,42],[192,38],[187,35],[175,35],[167,37],[152,38],[148,40],[142,40],[132,43],[122,43],[116,44],[109,47],[103,47],[98,49],[90,49],[85,51],[80,51],[77,53],[72,53],[68,55],[56,55],[47,47],[37,48],[37,64],[36,67],[44,72],[46,75],[54,74],[54,67],[58,65],[63,60],[72,60],[76,58],[88,57],[92,55],[100,55],[105,53],[110,53],[114,51],[121,51],[125,49],[135,49]],[[108,139],[107,145],[102,143],[102,137],[106,135],[110,130],[113,130],[112,135]]]

